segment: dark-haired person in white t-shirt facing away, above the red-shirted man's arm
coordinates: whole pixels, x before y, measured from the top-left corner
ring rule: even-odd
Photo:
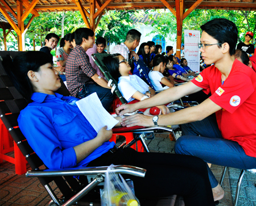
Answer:
[[[153,59],[153,69],[148,73],[148,77],[152,85],[154,86],[155,90],[166,90],[174,85],[164,77],[163,72],[166,69],[166,62],[167,59],[162,55],[158,54]],[[168,60],[169,62],[169,60]],[[162,86],[165,85],[164,87]]]

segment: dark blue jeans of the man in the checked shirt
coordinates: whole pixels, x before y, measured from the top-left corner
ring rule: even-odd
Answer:
[[[96,85],[95,83],[87,83],[82,86],[81,91],[77,93],[76,97],[79,99],[85,98],[92,93],[97,93],[98,98],[101,100],[102,106],[109,111],[111,104],[113,103],[114,96],[110,89]]]

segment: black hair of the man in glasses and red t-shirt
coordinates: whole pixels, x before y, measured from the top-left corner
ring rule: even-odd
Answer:
[[[207,32],[218,41],[218,43],[229,44],[229,54],[232,56],[236,53],[238,39],[237,26],[228,19],[213,19],[201,26],[201,30]],[[222,45],[218,45],[221,48]]]

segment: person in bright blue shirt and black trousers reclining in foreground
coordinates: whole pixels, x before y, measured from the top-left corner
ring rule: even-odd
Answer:
[[[20,111],[20,131],[49,169],[133,165],[147,170],[144,178],[123,175],[133,180],[139,199],[179,194],[188,206],[214,205],[207,167],[200,158],[131,148],[110,152],[115,146],[109,142],[112,130],[103,127],[97,133],[77,107],[78,98],[55,93],[60,78],[46,53],[23,52],[2,63],[16,89],[31,102]],[[164,181],[159,181],[156,177],[162,174]]]

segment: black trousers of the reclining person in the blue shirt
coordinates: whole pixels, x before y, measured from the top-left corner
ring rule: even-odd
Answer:
[[[206,163],[200,158],[168,153],[140,153],[131,148],[105,153],[89,163],[92,166],[131,165],[146,169],[144,178],[132,179],[139,199],[181,195],[185,205],[215,205]]]

